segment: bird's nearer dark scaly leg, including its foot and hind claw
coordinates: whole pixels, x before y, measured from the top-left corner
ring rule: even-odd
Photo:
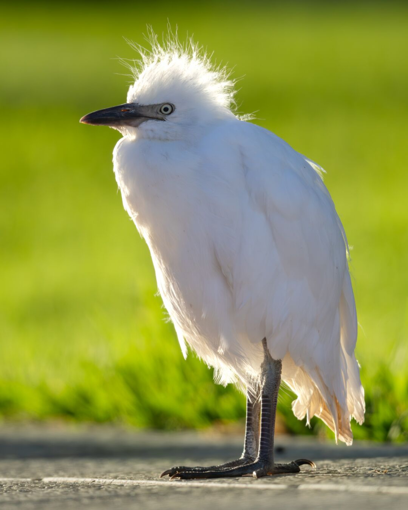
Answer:
[[[221,478],[228,476],[243,476],[252,474],[259,478],[265,475],[278,473],[298,473],[299,466],[314,463],[299,459],[289,464],[275,464],[273,459],[273,437],[275,430],[276,404],[279,386],[281,384],[282,361],[274,360],[269,353],[266,339],[262,341],[264,348],[264,361],[261,364],[261,427],[259,449],[257,458],[250,463],[224,469],[210,469],[208,471],[177,472],[171,478]]]

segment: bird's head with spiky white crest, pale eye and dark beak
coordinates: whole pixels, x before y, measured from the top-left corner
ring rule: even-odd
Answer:
[[[141,58],[132,65],[135,82],[126,103],[98,110],[81,122],[107,125],[131,138],[185,139],[219,119],[234,116],[234,82],[224,67],[215,67],[206,53],[190,40],[176,36],[163,44],[150,33],[150,50],[141,46]]]

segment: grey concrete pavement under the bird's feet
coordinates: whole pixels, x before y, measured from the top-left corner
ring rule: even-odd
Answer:
[[[248,509],[406,508],[408,445],[336,446],[278,436],[276,461],[299,457],[296,475],[259,480],[169,481],[173,465],[211,465],[240,455],[242,438],[117,428],[0,428],[0,504],[8,508]]]

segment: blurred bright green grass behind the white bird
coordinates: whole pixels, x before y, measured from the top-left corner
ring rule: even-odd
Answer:
[[[244,398],[184,361],[112,172],[119,134],[79,124],[123,103],[122,36],[167,18],[235,66],[241,112],[326,170],[346,228],[367,415],[408,439],[408,10],[393,3],[9,4],[0,20],[0,415],[205,427]],[[310,433],[282,392],[288,431]],[[323,431],[313,421],[312,432]],[[323,432],[321,432],[323,433]]]

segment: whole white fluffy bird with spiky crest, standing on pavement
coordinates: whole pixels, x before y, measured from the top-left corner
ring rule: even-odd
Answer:
[[[113,153],[123,205],[145,239],[184,356],[247,394],[241,458],[162,475],[299,472],[275,464],[281,378],[292,409],[352,443],[364,390],[348,245],[322,168],[234,113],[234,82],[192,41],[159,44],[135,65],[127,103],[90,113],[123,138]]]

